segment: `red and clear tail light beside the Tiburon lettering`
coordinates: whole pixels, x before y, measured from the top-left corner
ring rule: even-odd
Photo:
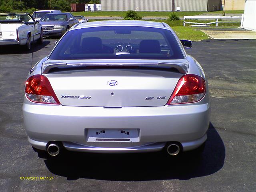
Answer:
[[[36,103],[60,104],[46,76],[33,75],[26,81],[27,98]]]

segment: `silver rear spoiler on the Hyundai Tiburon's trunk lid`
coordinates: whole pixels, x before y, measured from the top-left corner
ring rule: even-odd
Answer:
[[[172,62],[172,63],[97,63],[97,62],[92,62],[92,63],[60,63],[60,62],[48,62],[44,63],[42,66],[42,74],[48,74],[50,73],[50,70],[54,68],[60,68],[62,70],[68,69],[68,68],[86,68],[86,67],[102,67],[106,68],[108,66],[111,67],[129,67],[129,66],[138,66],[138,67],[148,67],[148,68],[167,68],[171,69],[174,68],[176,69],[179,73],[181,74],[186,74],[188,70],[188,62]]]

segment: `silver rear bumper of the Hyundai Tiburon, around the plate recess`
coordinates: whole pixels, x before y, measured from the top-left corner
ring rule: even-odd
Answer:
[[[67,150],[90,152],[146,152],[161,150],[166,142],[180,142],[193,150],[206,140],[210,122],[208,103],[156,107],[75,107],[35,104],[24,99],[28,140],[46,150],[62,141]],[[138,142],[88,142],[86,129],[139,129]]]

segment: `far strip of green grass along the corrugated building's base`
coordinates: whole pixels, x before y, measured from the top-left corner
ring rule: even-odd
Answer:
[[[82,11],[82,12],[72,12],[73,15],[83,15],[83,16],[106,16],[106,17],[111,17],[111,16],[124,16],[125,11],[96,11],[96,12],[89,12],[89,11]],[[168,17],[168,15],[171,12],[161,12],[161,11],[138,11],[138,14],[142,17]],[[181,12],[175,12],[177,16],[183,17],[184,15],[186,16],[193,16],[193,15],[199,15],[203,13],[219,13],[222,14],[222,11],[214,11],[214,12],[197,12],[197,11],[181,11]],[[225,13],[244,13],[244,11],[225,11]]]

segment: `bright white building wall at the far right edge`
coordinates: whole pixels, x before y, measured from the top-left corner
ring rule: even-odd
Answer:
[[[242,28],[256,31],[256,1],[254,0],[245,1]]]

